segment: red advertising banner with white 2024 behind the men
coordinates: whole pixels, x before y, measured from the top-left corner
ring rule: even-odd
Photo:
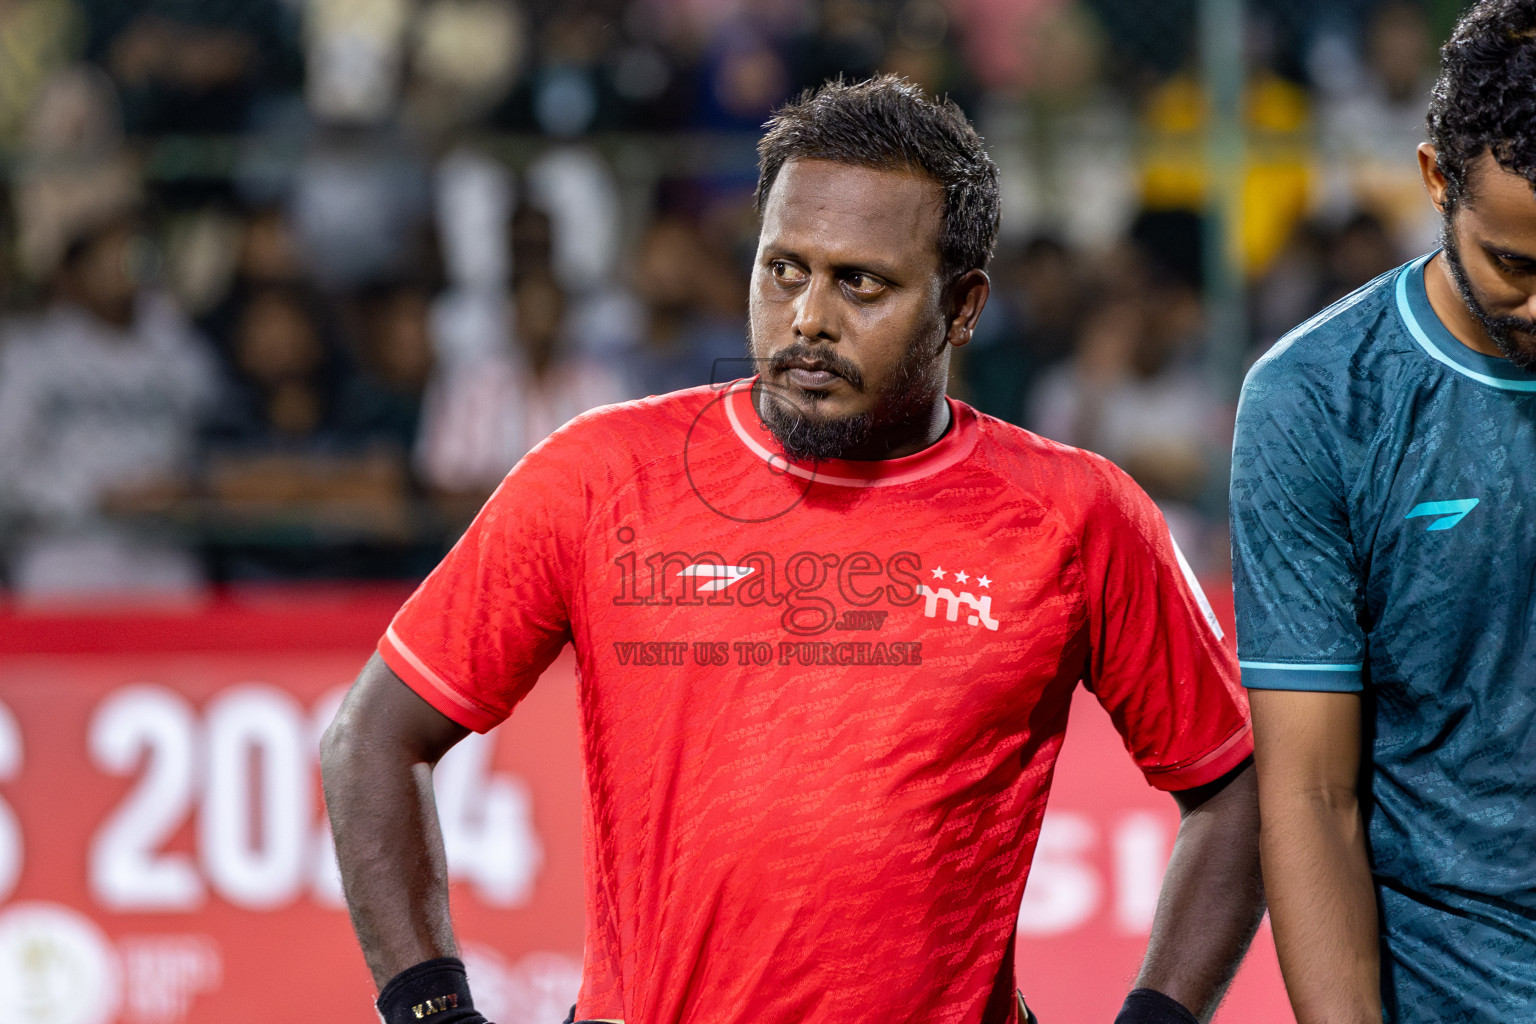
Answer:
[[[5,1021],[376,1021],[315,749],[402,597],[0,613]],[[579,984],[579,785],[568,657],[438,768],[455,920],[498,1024],[556,1024]],[[1074,705],[1020,918],[1046,1024],[1114,1018],[1177,824],[1092,699]],[[1217,1019],[1292,1019],[1267,932]]]

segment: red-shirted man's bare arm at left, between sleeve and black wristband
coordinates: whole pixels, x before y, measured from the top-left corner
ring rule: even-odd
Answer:
[[[375,654],[321,740],[341,884],[379,989],[458,953],[432,768],[467,734]]]

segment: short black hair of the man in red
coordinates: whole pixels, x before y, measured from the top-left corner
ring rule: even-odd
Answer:
[[[757,212],[790,160],[915,170],[945,192],[938,264],[945,279],[982,270],[997,244],[997,164],[952,100],[899,78],[840,78],[779,107],[757,143]]]

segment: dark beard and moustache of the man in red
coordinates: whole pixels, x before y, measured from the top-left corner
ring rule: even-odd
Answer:
[[[932,404],[932,388],[923,368],[934,356],[922,342],[912,345],[906,359],[897,367],[895,379],[885,393],[874,396],[874,407],[852,416],[829,419],[802,407],[820,405],[826,401],[822,391],[800,391],[791,398],[783,388],[759,382],[759,415],[773,433],[783,453],[796,462],[823,462],[846,459],[851,453],[869,451],[876,438],[891,427],[922,416]],[[840,376],[856,391],[863,391],[863,375],[836,348],[794,342],[760,364],[763,376],[782,373],[793,361],[816,361]]]

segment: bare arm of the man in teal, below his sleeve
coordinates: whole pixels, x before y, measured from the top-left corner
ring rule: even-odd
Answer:
[[[1255,689],[1264,881],[1298,1024],[1381,1024],[1359,694]]]

